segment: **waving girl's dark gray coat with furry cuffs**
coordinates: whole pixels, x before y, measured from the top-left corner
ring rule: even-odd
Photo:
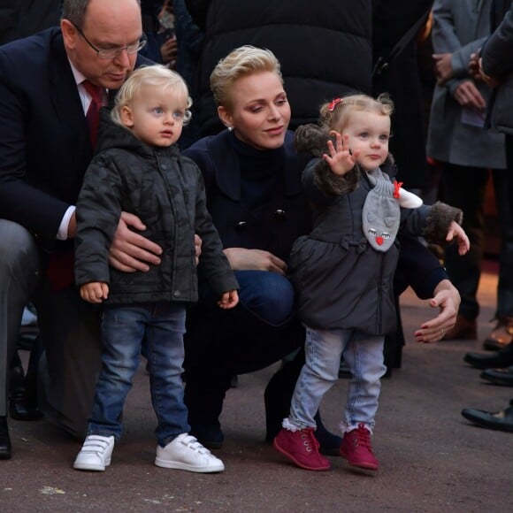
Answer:
[[[324,148],[318,147],[320,131],[309,128],[296,132],[298,149],[319,155]],[[393,178],[396,170],[387,165],[383,172]],[[331,180],[326,180],[327,174]],[[343,177],[333,177],[329,165],[318,157],[310,160],[302,175],[305,195],[313,204],[314,228],[295,241],[289,260],[299,316],[312,328],[391,333],[396,323],[394,272],[399,243],[382,252],[372,249],[365,238],[362,211],[373,188],[367,172],[356,166]],[[452,220],[461,222],[462,212],[441,203],[401,209],[400,232],[443,243]]]

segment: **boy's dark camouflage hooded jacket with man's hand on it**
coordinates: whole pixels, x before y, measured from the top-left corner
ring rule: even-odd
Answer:
[[[104,281],[109,303],[197,301],[194,235],[203,240],[200,267],[215,295],[238,288],[206,209],[195,163],[171,148],[153,148],[103,112],[103,137],[77,203],[75,280]],[[119,272],[108,254],[121,211],[141,218],[142,234],[163,249],[149,272]]]

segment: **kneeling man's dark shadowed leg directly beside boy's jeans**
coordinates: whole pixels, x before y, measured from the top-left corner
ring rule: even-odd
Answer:
[[[83,439],[101,368],[100,310],[82,301],[74,285],[53,290],[46,276],[34,303],[44,346],[38,366],[40,410]]]

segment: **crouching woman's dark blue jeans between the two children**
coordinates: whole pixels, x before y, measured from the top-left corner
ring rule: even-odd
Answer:
[[[203,442],[212,433],[219,440],[222,436],[218,417],[232,376],[264,369],[304,343],[294,289],[285,276],[265,271],[237,271],[235,276],[240,302],[234,309],[218,308],[213,295],[200,287],[200,301],[188,310],[185,401],[192,433]],[[279,422],[288,411],[296,377],[297,372],[287,378],[290,387],[281,382],[273,387]]]

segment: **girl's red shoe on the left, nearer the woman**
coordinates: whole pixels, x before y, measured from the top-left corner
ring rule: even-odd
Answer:
[[[282,428],[272,445],[302,469],[328,471],[331,463],[318,452],[319,443],[313,433],[313,427],[298,431]]]

